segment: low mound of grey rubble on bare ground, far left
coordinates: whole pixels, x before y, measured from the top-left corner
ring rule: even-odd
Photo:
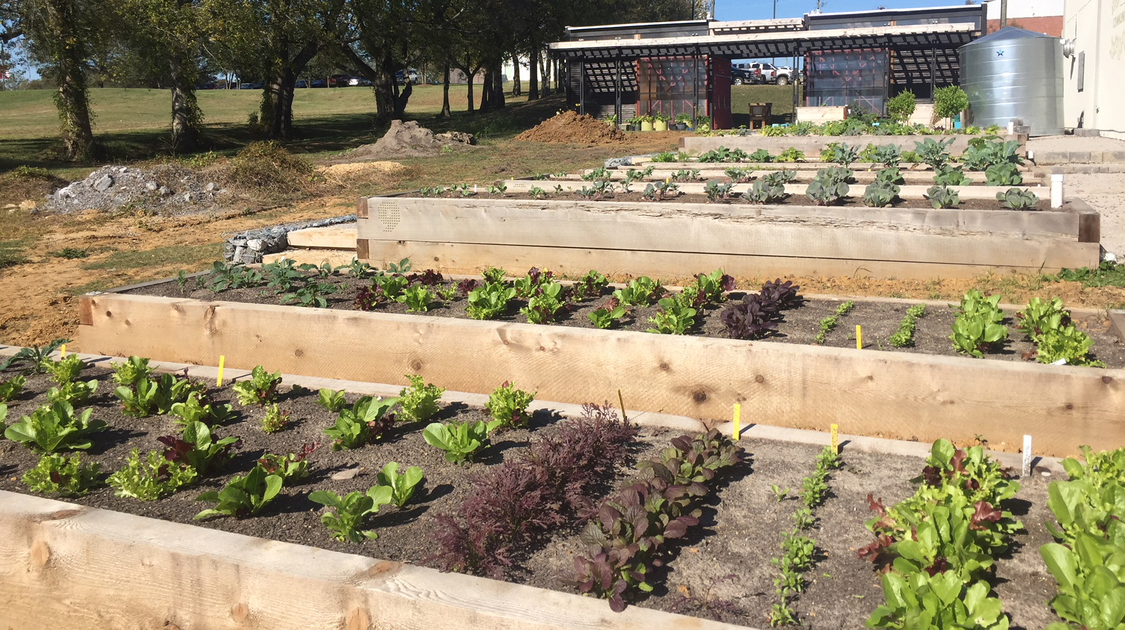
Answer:
[[[156,214],[187,214],[213,208],[225,194],[207,177],[173,164],[152,170],[102,166],[48,195],[46,207],[57,213],[129,207]]]

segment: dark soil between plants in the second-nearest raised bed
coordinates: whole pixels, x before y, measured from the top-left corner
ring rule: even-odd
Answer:
[[[331,281],[340,287],[340,290],[326,297],[328,308],[354,309],[357,292],[369,286],[370,280],[360,280],[350,276],[333,276]],[[256,304],[282,304],[282,296],[276,295],[273,289],[264,287],[230,289],[222,292],[214,292],[204,288],[207,282],[206,276],[189,278],[181,289],[176,281],[151,285],[147,287],[125,291],[134,295],[150,295],[164,297],[187,297],[199,300],[225,300]],[[443,287],[451,287],[454,284],[446,282]],[[746,287],[755,290],[756,287]],[[582,328],[595,327],[588,314],[605,306],[612,294],[611,288],[602,290],[601,295],[590,297],[575,303],[573,308],[559,313],[555,325],[572,326]],[[744,297],[745,292],[735,290],[729,294],[728,302],[736,302]],[[801,306],[782,312],[782,318],[773,334],[764,338],[764,341],[782,343],[814,344],[817,334],[820,332],[820,322],[834,315],[836,309],[845,300],[811,299],[804,300]],[[526,323],[528,318],[520,314],[520,308],[526,305],[525,302],[515,300],[508,308],[508,314],[501,317],[503,322]],[[896,348],[888,341],[899,330],[899,324],[906,316],[909,305],[885,303],[885,302],[856,302],[855,307],[846,315],[838,318],[837,326],[829,332],[824,345],[831,348],[855,348],[855,327],[862,326],[863,348],[865,350],[888,351],[888,352],[911,352],[919,354],[944,354],[950,357],[961,357],[953,348],[950,335],[953,331],[953,322],[956,318],[956,303],[951,303],[948,307],[927,307],[926,315],[918,320],[914,335],[914,344],[907,348]],[[461,294],[449,302],[435,302],[429,312],[421,315],[433,315],[436,317],[460,317],[466,318],[468,300]],[[720,314],[724,305],[710,306],[701,309],[696,316],[696,324],[688,334],[727,338],[726,326]],[[398,303],[384,303],[375,308],[381,313],[407,313],[406,306]],[[659,308],[657,306],[636,307],[628,310],[626,316],[614,323],[612,330],[645,332],[650,327],[649,318]],[[1008,340],[997,344],[989,353],[988,359],[999,359],[1008,361],[1034,361],[1035,344],[1026,339],[1017,327],[1015,313],[1005,313],[1005,323],[1008,326]],[[1088,318],[1076,317],[1076,324],[1087,332],[1094,340],[1091,357],[1100,360],[1110,368],[1125,367],[1125,344],[1113,332],[1108,320],[1100,316]]]

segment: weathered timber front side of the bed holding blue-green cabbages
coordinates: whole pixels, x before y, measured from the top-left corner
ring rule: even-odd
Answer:
[[[1074,213],[478,198],[367,201],[357,238],[366,242],[359,250],[366,249],[368,256],[378,251],[380,241],[459,243],[801,258],[840,261],[845,268],[860,267],[847,264],[853,261],[929,263],[928,277],[934,277],[955,274],[958,268],[970,276],[981,268],[1087,267],[1097,264],[1099,254],[1097,243],[1079,242],[1081,222]],[[741,267],[750,267],[742,262]],[[672,276],[698,271],[683,269]]]

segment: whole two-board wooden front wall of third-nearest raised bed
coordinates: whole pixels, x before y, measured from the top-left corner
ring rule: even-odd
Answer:
[[[358,209],[357,255],[453,273],[495,264],[665,278],[717,268],[928,279],[1096,267],[1098,214],[1070,209],[372,197]]]

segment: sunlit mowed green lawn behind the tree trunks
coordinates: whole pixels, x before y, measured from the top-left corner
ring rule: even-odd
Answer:
[[[474,90],[479,102],[479,86]],[[511,90],[511,84],[507,86]],[[549,117],[559,99],[526,104],[526,97],[508,97],[518,107],[494,114],[466,112],[467,87],[451,86],[451,119],[435,118],[441,111],[441,86],[417,86],[406,108],[408,118],[423,120],[435,132],[456,128],[485,136],[514,135]],[[0,92],[0,172],[26,164],[43,166],[62,177],[78,177],[74,164],[58,159],[58,115],[53,90]],[[200,90],[199,108],[209,148],[233,153],[263,140],[246,120],[258,111],[261,90]],[[94,140],[102,146],[102,162],[145,160],[170,152],[171,92],[169,90],[104,88],[90,90]],[[369,88],[299,89],[294,97],[296,137],[291,151],[324,154],[375,142],[386,127],[375,126],[375,94]]]

